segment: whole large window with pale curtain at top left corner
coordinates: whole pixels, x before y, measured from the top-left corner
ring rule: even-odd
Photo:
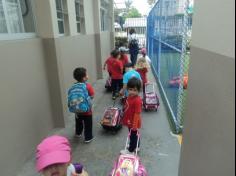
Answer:
[[[35,32],[31,0],[0,0],[0,34]]]

